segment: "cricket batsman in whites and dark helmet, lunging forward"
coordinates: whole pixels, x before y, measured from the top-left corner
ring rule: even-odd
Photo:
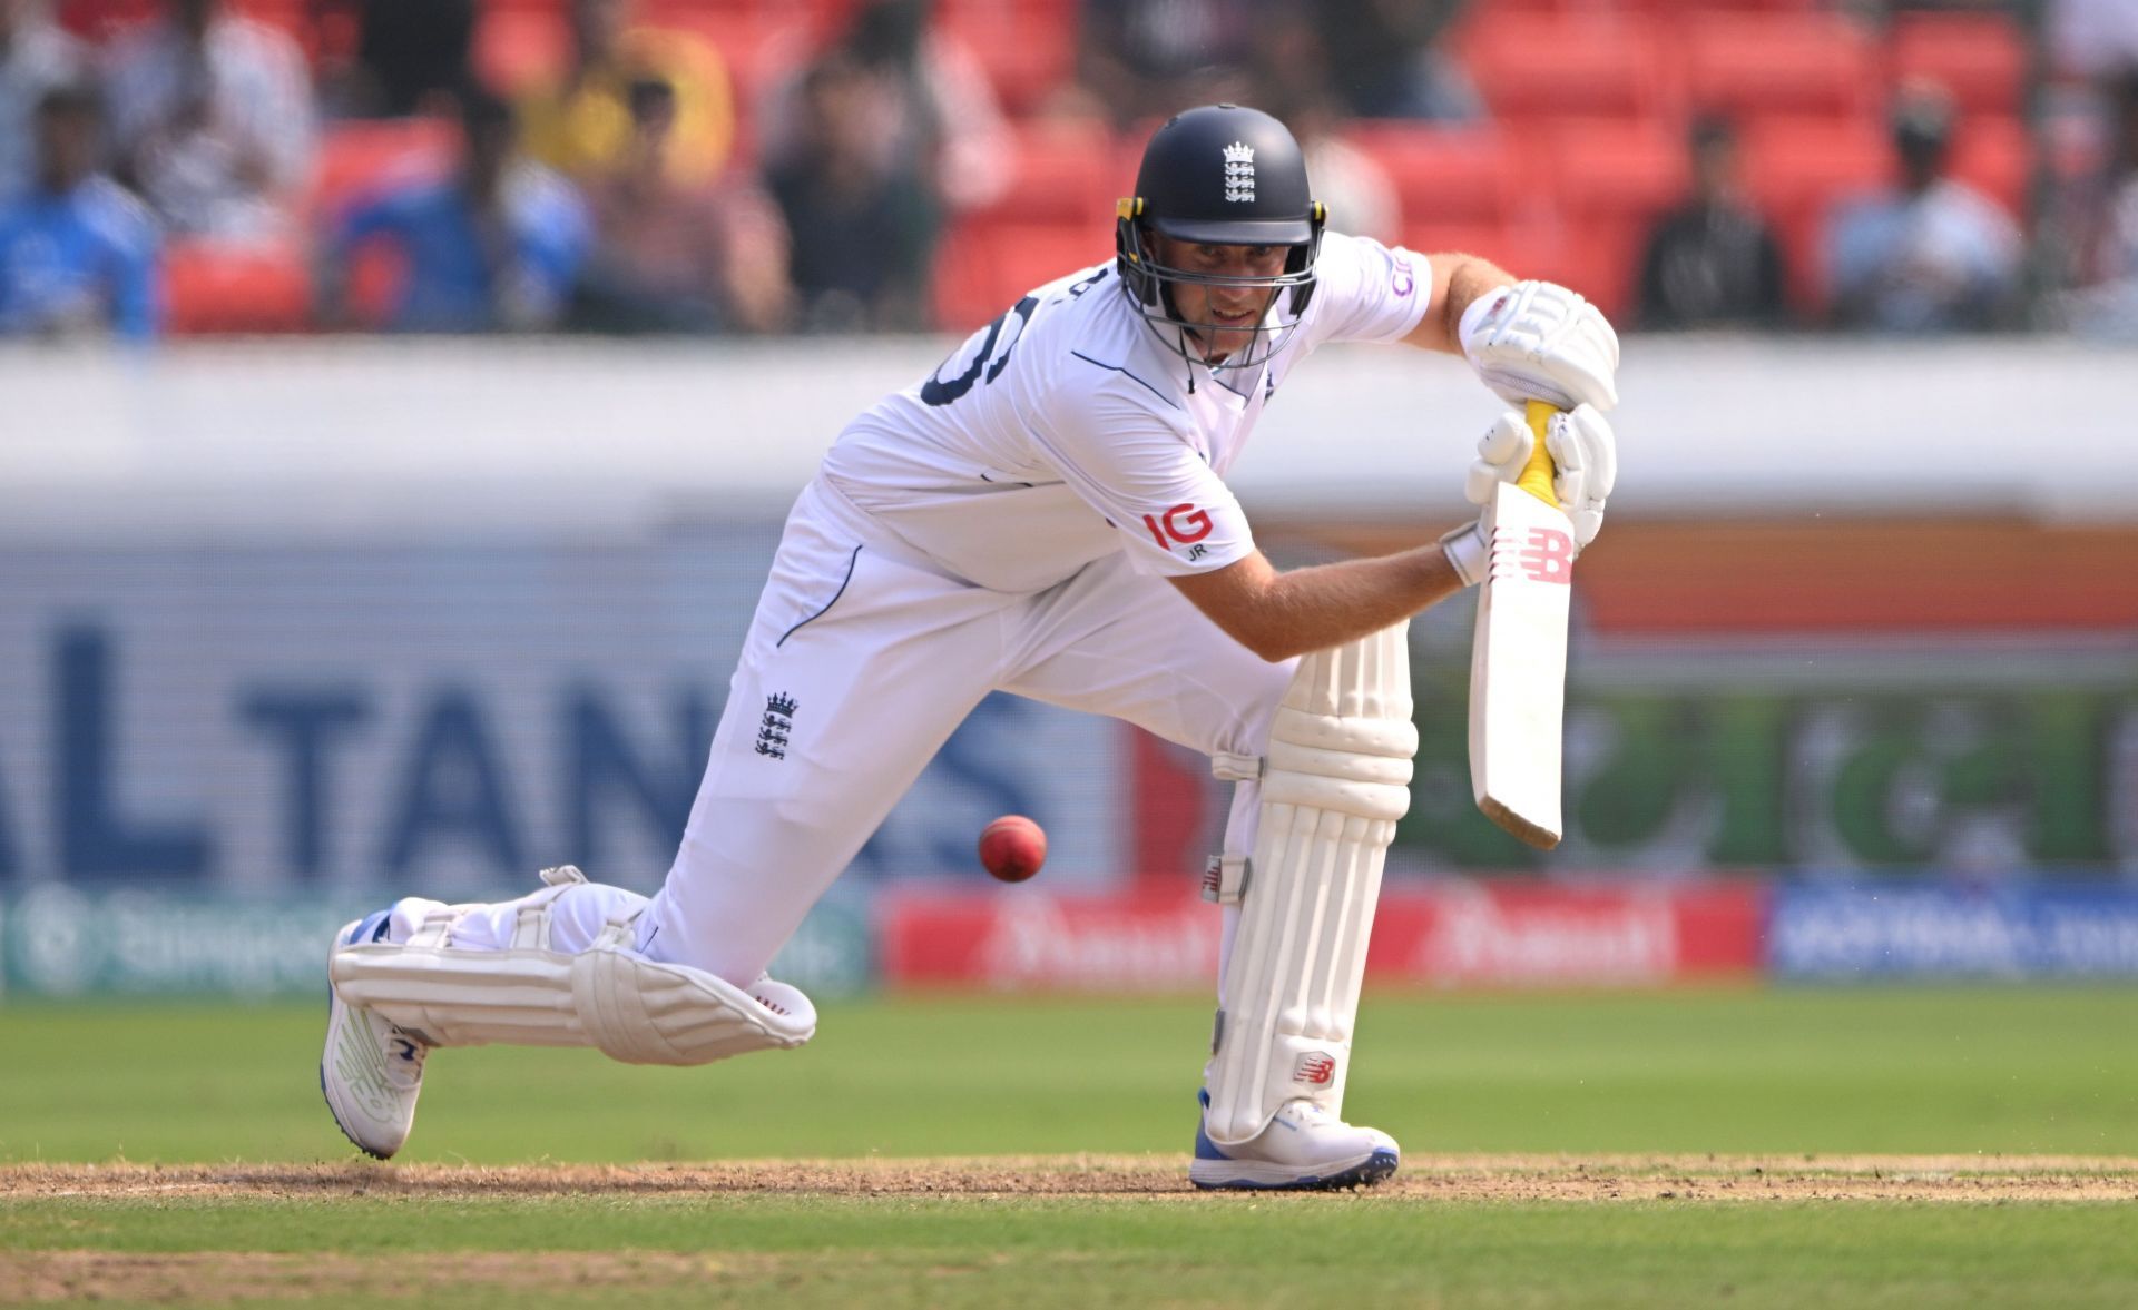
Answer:
[[[795,1047],[815,1009],[765,974],[990,690],[1129,720],[1236,782],[1206,876],[1223,953],[1191,1178],[1360,1186],[1398,1148],[1343,1120],[1381,863],[1409,804],[1405,626],[1479,581],[1477,524],[1276,571],[1225,474],[1326,342],[1467,357],[1548,427],[1586,545],[1616,474],[1618,338],[1580,295],[1469,254],[1326,231],[1274,118],[1152,132],[1114,259],[1035,288],[934,374],[853,419],[802,489],[729,684],[682,846],[652,898],[577,870],[502,904],[406,898],[346,925],[321,1086],[387,1158],[432,1047],[592,1045],[706,1064]],[[1486,504],[1535,438],[1479,442]]]

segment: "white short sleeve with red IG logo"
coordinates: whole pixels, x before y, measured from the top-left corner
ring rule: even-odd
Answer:
[[[1122,539],[1131,568],[1161,577],[1210,573],[1255,551],[1246,513],[1197,453],[1189,415],[1133,383],[1065,389],[1033,423],[1039,453]]]

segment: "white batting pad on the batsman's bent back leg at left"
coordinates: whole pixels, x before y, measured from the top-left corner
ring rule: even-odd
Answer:
[[[505,951],[447,945],[445,915],[402,945],[342,945],[329,960],[334,989],[436,1047],[599,1047],[626,1064],[710,1064],[797,1047],[817,1032],[817,1009],[787,983],[759,979],[744,989],[633,953],[635,917],[577,955],[552,951],[554,895],[537,900]]]

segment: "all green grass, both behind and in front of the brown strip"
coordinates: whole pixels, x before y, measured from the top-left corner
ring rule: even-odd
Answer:
[[[323,1013],[0,1007],[0,1306],[2138,1306],[2138,989],[1368,1000],[1351,1118],[1413,1160],[1695,1160],[1616,1167],[1608,1201],[1430,1180],[1358,1197],[539,1182],[567,1163],[1065,1152],[1174,1180],[1208,1032],[1208,1004],[1180,998],[847,1002],[802,1051],[697,1071],[443,1051],[402,1160],[537,1169],[351,1165],[319,1101]],[[1745,1154],[1969,1156],[2046,1184],[1755,1199],[1728,1158]],[[2125,1163],[2106,1190],[2059,1192],[2063,1165],[2008,1156]],[[26,1167],[111,1160],[173,1171],[98,1188]],[[248,1165],[314,1171],[244,1182]]]

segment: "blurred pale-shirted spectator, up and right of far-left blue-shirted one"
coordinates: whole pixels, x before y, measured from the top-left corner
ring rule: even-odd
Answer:
[[[222,11],[169,0],[111,51],[120,177],[177,233],[284,231],[312,167],[312,83],[297,43]]]

